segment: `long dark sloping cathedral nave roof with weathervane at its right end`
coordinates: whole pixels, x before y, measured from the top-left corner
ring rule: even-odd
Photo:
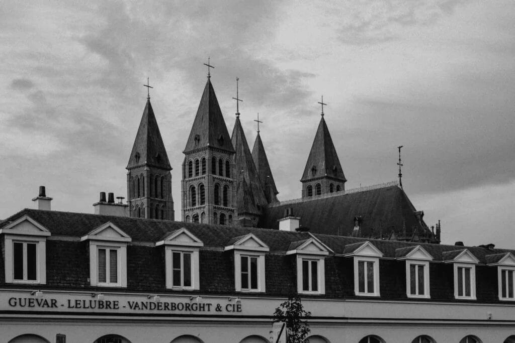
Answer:
[[[356,216],[361,216],[362,237],[379,236],[381,231],[383,234],[392,230],[402,233],[404,222],[408,233],[415,228],[421,234],[429,231],[424,221],[417,218],[415,207],[406,193],[396,184],[371,188],[270,204],[258,225],[278,229],[278,220],[284,218],[286,208],[291,208],[291,215],[299,216],[300,225],[313,233],[348,236],[354,228]]]

